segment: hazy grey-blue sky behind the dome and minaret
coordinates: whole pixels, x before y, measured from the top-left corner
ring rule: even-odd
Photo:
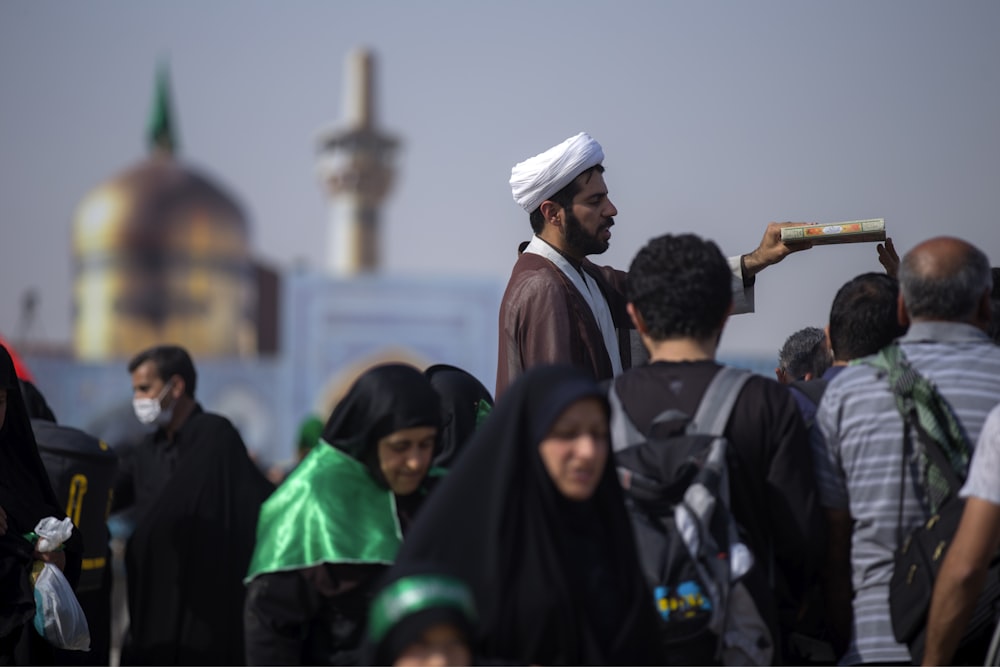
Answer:
[[[169,62],[180,158],[250,218],[255,253],[322,267],[318,132],[344,61],[378,57],[403,141],[383,213],[392,273],[504,281],[530,235],[511,166],[579,131],[619,209],[601,263],[665,232],[747,252],[769,220],[884,217],[901,252],[947,233],[1000,263],[1000,3],[0,3],[0,333],[70,337],[74,210],[143,159]],[[825,324],[873,244],[793,255],[758,279],[723,352],[774,354]]]

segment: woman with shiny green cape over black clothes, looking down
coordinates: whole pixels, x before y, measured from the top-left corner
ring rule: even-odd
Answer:
[[[357,664],[379,575],[430,484],[441,404],[407,364],[362,374],[264,503],[247,576],[247,664]]]

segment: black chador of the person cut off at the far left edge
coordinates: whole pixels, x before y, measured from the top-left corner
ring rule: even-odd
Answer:
[[[0,388],[7,390],[7,415],[0,428],[0,507],[7,513],[7,532],[0,536],[0,637],[34,614],[35,601],[28,578],[34,548],[22,536],[45,517],[62,519],[49,476],[38,455],[28,409],[21,395],[14,361],[0,345]],[[80,537],[67,544],[79,550]],[[79,560],[67,559],[79,572]]]

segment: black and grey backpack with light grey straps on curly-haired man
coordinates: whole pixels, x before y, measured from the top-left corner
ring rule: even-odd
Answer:
[[[723,432],[750,376],[721,368],[693,418],[665,411],[648,435],[613,384],[608,392],[618,475],[675,664],[766,665],[774,658],[770,630],[744,582],[754,556],[729,511]],[[658,433],[678,418],[685,428]]]

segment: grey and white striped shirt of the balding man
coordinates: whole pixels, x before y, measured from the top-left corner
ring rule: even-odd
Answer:
[[[1000,402],[1000,347],[971,325],[949,322],[916,322],[900,344],[975,443]],[[820,502],[848,510],[854,520],[854,627],[841,664],[908,661],[909,650],[892,633],[889,580],[900,535],[925,521],[927,512],[907,466],[898,525],[903,422],[884,373],[864,364],[849,366],[827,387],[816,419],[826,441],[826,456],[816,461]]]

